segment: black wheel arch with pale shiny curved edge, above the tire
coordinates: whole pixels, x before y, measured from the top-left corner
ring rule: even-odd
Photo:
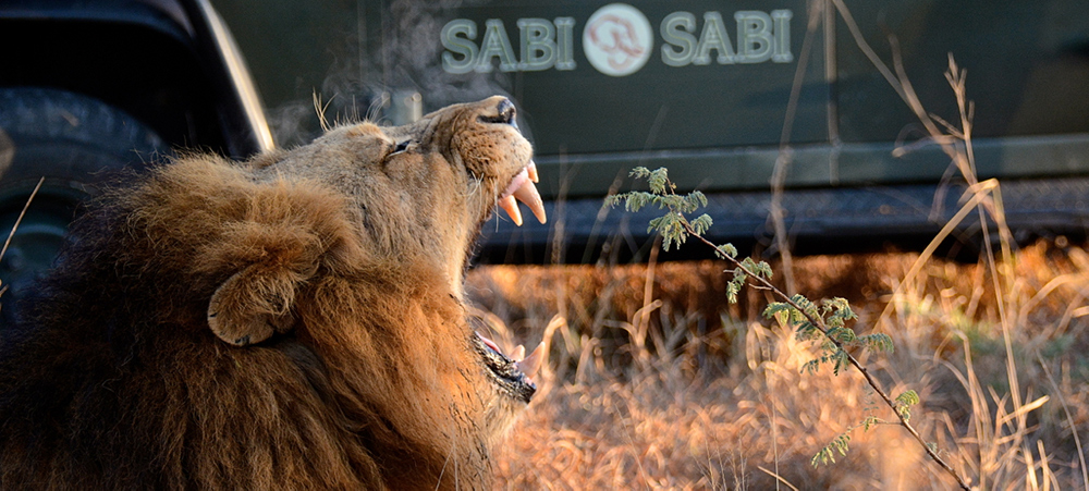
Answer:
[[[12,0],[0,3],[0,86],[100,99],[180,147],[242,158],[272,146],[241,53],[206,0]]]

